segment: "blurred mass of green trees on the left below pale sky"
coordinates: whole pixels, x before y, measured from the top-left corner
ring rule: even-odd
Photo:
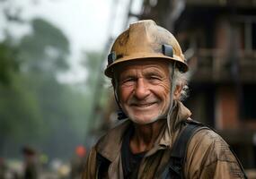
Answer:
[[[32,144],[68,158],[84,142],[87,97],[57,81],[68,69],[64,33],[42,19],[32,20],[31,28],[16,44],[0,43],[0,155]]]

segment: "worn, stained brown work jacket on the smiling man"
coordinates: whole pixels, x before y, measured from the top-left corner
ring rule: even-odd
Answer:
[[[190,119],[190,115],[190,110],[187,107],[184,107],[179,101],[175,102],[170,125],[168,126],[166,121],[153,149],[150,149],[142,159],[138,169],[138,179],[161,178],[163,170],[169,163],[172,144],[184,128],[181,121]],[[107,178],[123,178],[122,137],[131,124],[130,120],[126,120],[97,142],[87,158],[83,179],[97,178],[97,153],[110,161]],[[243,170],[230,151],[228,144],[216,132],[207,129],[200,130],[190,140],[184,175],[188,179],[244,178]]]

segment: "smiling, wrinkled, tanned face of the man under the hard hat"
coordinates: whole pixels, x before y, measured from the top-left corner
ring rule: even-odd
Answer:
[[[169,64],[141,60],[118,67],[119,103],[137,124],[150,124],[166,115],[170,106]]]

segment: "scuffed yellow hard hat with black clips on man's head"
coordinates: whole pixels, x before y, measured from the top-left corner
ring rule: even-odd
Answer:
[[[181,72],[188,71],[188,64],[176,38],[168,30],[152,20],[137,21],[130,24],[115,40],[108,55],[106,76],[112,78],[114,66],[131,60],[148,58],[177,62]]]

